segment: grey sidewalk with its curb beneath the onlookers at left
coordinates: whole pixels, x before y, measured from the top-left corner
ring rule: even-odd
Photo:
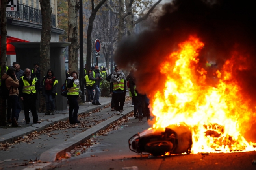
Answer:
[[[92,105],[85,102],[84,106],[79,106],[78,114],[89,113],[95,109],[103,108],[111,104],[111,97],[100,97],[101,105]],[[69,106],[68,106],[69,108]],[[69,110],[56,111],[55,115],[45,115],[45,113],[37,113],[40,124],[33,124],[33,117],[30,113],[30,124],[26,124],[24,111],[20,112],[18,124],[21,127],[11,127],[11,124],[7,126],[0,126],[0,143],[12,143],[17,140],[18,137],[28,135],[34,131],[43,130],[46,127],[53,125],[59,121],[65,121],[69,118]]]

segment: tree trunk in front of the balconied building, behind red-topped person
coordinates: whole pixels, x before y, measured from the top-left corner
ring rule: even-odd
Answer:
[[[40,65],[41,75],[46,75],[50,69],[50,42],[51,42],[51,29],[52,29],[52,7],[50,1],[39,0],[41,13],[42,13],[42,30],[40,41]],[[38,112],[45,112],[45,98],[41,96],[40,107]]]

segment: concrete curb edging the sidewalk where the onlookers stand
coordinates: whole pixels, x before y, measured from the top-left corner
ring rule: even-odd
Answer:
[[[89,106],[87,108],[78,110],[78,114],[92,112],[93,110],[96,110],[98,108],[108,106],[110,103],[111,103],[111,101],[107,101],[107,102],[103,102],[101,105]],[[69,115],[61,115],[59,117],[49,119],[48,121],[41,122],[40,124],[33,124],[32,126],[19,129],[17,131],[8,133],[6,135],[2,135],[2,136],[0,136],[0,143],[6,143],[6,142],[13,143],[13,141],[18,139],[18,137],[22,137],[24,135],[29,135],[30,133],[35,132],[35,131],[44,130],[45,128],[49,127],[50,125],[54,125],[54,123],[59,122],[59,121],[66,121],[68,118],[69,118]]]

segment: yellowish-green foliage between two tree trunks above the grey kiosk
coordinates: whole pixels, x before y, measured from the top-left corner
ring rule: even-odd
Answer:
[[[58,20],[58,26],[60,29],[64,29],[65,33],[62,35],[59,35],[59,41],[67,41],[68,39],[68,23],[69,23],[69,17],[68,17],[68,2],[67,0],[57,0],[57,20]]]

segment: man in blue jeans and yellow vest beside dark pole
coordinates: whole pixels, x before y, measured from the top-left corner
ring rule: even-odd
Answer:
[[[95,95],[93,97],[93,102],[91,104],[101,105],[100,98],[100,82],[102,81],[103,75],[100,73],[99,66],[95,66],[93,71],[89,75],[89,79],[92,80],[93,88],[95,89]]]

